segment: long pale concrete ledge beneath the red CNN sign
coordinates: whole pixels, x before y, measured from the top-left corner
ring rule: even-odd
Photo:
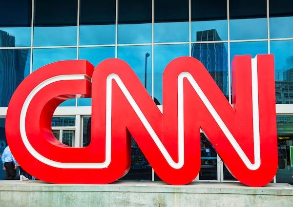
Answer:
[[[109,185],[48,184],[0,180],[0,207],[289,207],[293,186],[270,183],[115,182]]]

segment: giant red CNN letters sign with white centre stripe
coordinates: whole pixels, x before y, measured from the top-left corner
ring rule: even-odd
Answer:
[[[172,60],[163,74],[163,113],[120,59],[94,66],[55,62],[27,76],[6,116],[6,138],[21,167],[50,183],[107,184],[130,168],[130,134],[157,175],[184,185],[201,167],[200,129],[233,176],[248,186],[272,181],[278,163],[272,55],[235,56],[232,106],[197,59]],[[91,143],[72,148],[53,135],[64,100],[92,97]]]

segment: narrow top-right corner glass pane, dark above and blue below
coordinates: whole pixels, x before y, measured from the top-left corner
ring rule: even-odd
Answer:
[[[270,37],[293,38],[293,1],[270,0]]]

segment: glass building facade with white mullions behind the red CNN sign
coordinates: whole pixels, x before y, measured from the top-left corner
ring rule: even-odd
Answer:
[[[0,154],[7,145],[5,116],[11,95],[23,78],[48,63],[87,59],[96,66],[107,58],[121,58],[157,105],[164,105],[162,75],[172,59],[199,59],[231,101],[233,56],[257,54],[273,54],[275,62],[279,166],[273,182],[292,183],[292,0],[3,1]],[[63,102],[52,119],[56,138],[72,147],[86,147],[90,143],[90,107],[90,98]],[[201,139],[202,169],[196,181],[235,180],[204,134]],[[132,166],[123,179],[159,179],[134,140]]]

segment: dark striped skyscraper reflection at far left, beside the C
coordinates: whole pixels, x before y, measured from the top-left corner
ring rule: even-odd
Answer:
[[[0,47],[15,47],[15,37],[0,30]],[[12,94],[23,80],[28,51],[0,50],[0,107],[8,106]]]

